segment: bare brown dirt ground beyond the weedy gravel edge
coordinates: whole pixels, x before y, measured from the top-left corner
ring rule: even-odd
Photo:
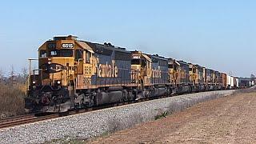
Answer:
[[[256,93],[203,102],[91,143],[255,143]]]

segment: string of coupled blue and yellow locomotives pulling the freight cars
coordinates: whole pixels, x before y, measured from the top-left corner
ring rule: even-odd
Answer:
[[[38,70],[33,71],[25,98],[30,112],[66,112],[228,87],[226,74],[218,71],[71,35],[43,43],[38,49]]]

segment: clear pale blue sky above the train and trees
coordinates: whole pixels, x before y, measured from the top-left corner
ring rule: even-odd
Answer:
[[[250,76],[256,73],[255,7],[253,0],[5,1],[0,68],[18,72],[47,39],[74,34]]]

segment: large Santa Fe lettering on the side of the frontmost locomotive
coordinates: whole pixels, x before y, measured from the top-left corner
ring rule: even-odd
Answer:
[[[117,78],[118,77],[118,67],[114,64],[99,64],[98,66],[98,77],[102,78]]]

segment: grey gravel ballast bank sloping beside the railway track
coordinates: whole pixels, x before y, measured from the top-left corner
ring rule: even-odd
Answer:
[[[171,114],[198,102],[233,93],[234,90],[222,90],[184,94],[14,126],[0,130],[0,143],[42,143],[52,142],[54,139],[92,138],[154,120],[163,113]]]

